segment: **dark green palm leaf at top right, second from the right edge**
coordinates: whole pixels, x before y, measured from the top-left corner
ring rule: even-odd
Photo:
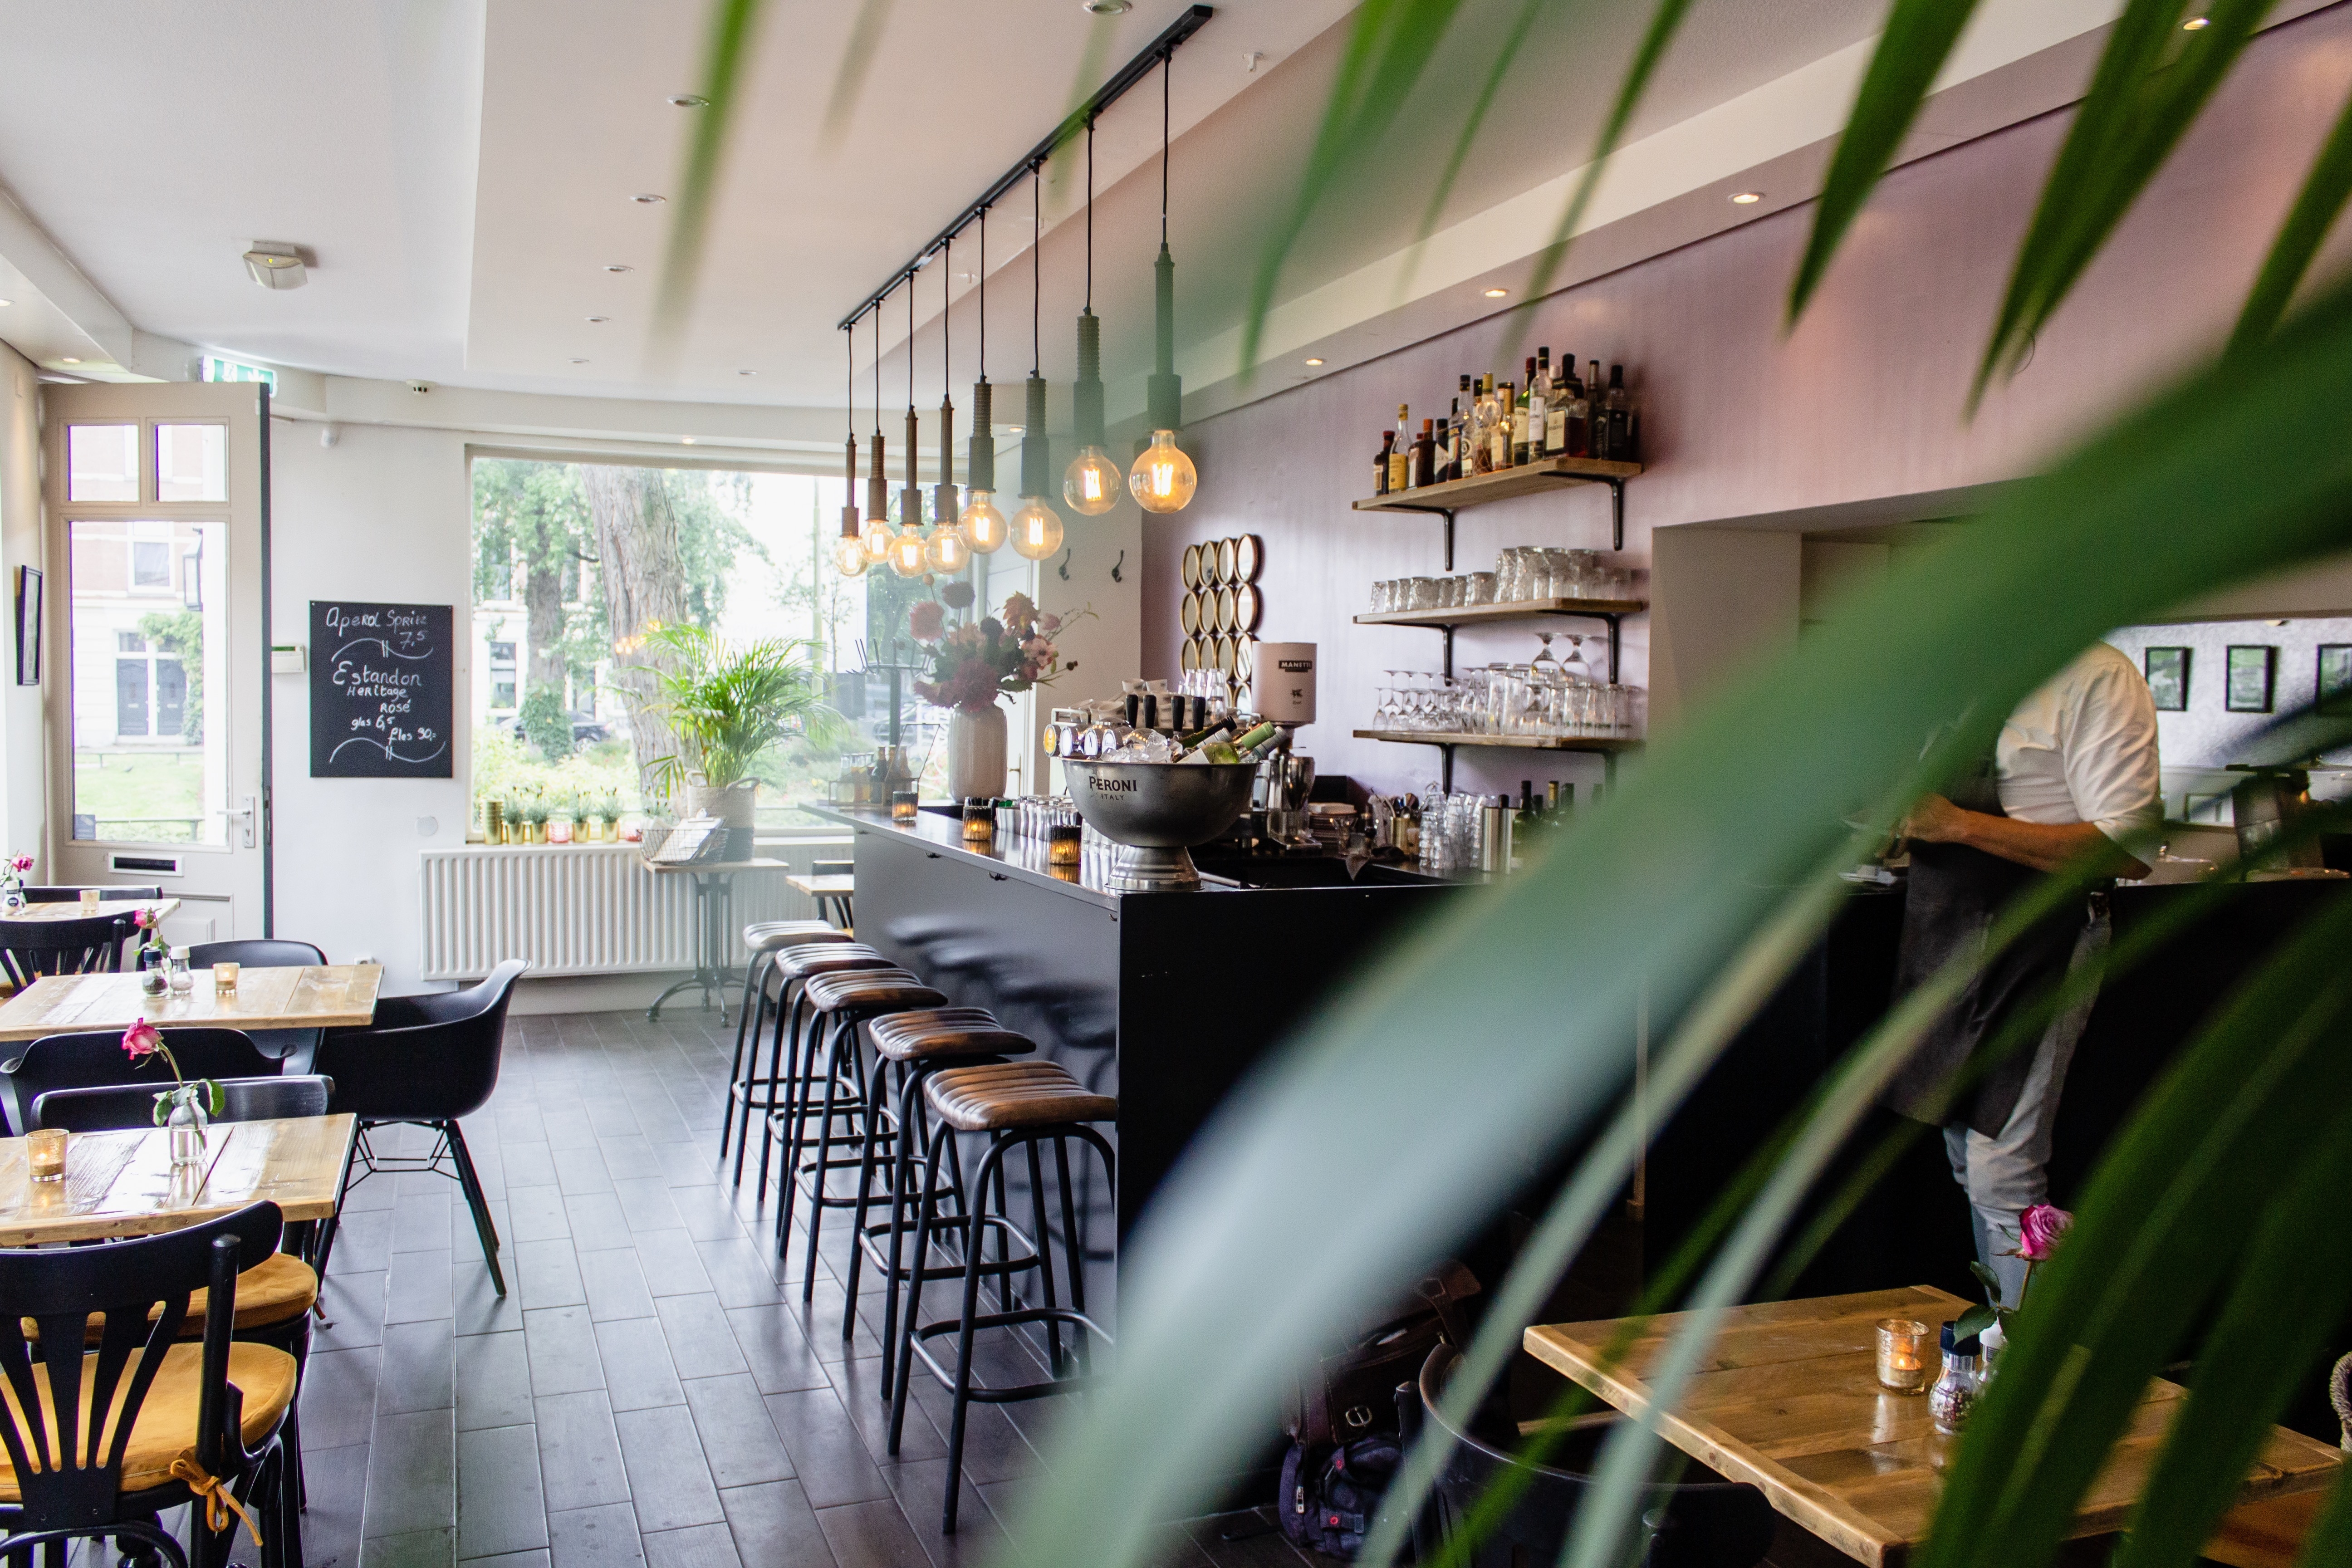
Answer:
[[[2218,0],[2194,33],[2180,28],[2187,0],[2124,7],[2018,247],[1971,397],[2025,362],[2034,334],[2194,125],[2272,2]]]

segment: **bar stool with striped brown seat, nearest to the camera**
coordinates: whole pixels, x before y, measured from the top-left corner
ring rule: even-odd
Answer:
[[[906,1380],[913,1375],[915,1356],[922,1356],[922,1363],[931,1368],[931,1375],[936,1375],[955,1394],[955,1415],[948,1422],[948,1500],[938,1516],[941,1535],[955,1535],[955,1500],[964,1469],[964,1420],[971,1401],[1018,1403],[1025,1399],[1080,1392],[1089,1385],[1087,1338],[1094,1335],[1101,1338],[1103,1345],[1110,1345],[1110,1335],[1103,1326],[1087,1316],[1087,1269],[1075,1246],[1077,1201],[1070,1187],[1070,1140],[1077,1138],[1101,1154],[1103,1178],[1112,1182],[1112,1190],[1117,1190],[1117,1164],[1112,1159],[1110,1143],[1094,1131],[1089,1121],[1112,1121],[1120,1114],[1120,1103],[1110,1095],[1087,1093],[1084,1084],[1054,1063],[946,1067],[924,1079],[922,1095],[931,1114],[943,1124],[941,1135],[931,1140],[924,1192],[938,1187],[946,1150],[955,1143],[953,1133],[988,1133],[988,1152],[981,1157],[978,1166],[974,1166],[971,1182],[964,1194],[967,1218],[962,1222],[962,1267],[953,1269],[953,1274],[964,1281],[962,1312],[953,1319],[938,1319],[936,1324],[922,1321],[922,1281],[931,1274],[931,1269],[922,1265],[931,1248],[934,1204],[924,1201],[915,1206],[915,1267],[908,1269],[906,1326],[898,1331],[898,1371],[889,1401],[889,1453],[896,1455],[898,1432],[906,1427]],[[1061,1185],[1061,1234],[1070,1241],[1061,1248],[1063,1274],[1070,1288],[1068,1307],[1056,1300],[1054,1291],[1054,1237],[1047,1229],[1044,1175],[1037,1161],[1037,1147],[1044,1143],[1054,1145],[1054,1173]],[[1028,1154],[1033,1234],[1023,1234],[1021,1227],[1014,1225],[1011,1215],[1004,1213],[1002,1182],[997,1180],[1004,1168],[1004,1157],[1016,1147]],[[990,1187],[1000,1194],[995,1213],[988,1208]],[[983,1232],[995,1232],[1000,1246],[1004,1248],[1009,1248],[1011,1241],[1025,1244],[1028,1258],[1002,1258],[997,1265],[985,1265],[981,1260]],[[997,1312],[981,1312],[981,1276],[995,1272],[1000,1279],[1009,1279],[1011,1269],[1028,1262],[1037,1269],[1037,1286],[1044,1300],[1040,1305],[1023,1307],[1000,1302]],[[971,1387],[971,1335],[981,1328],[1021,1328],[1025,1324],[1044,1324],[1047,1328],[1051,1378],[1044,1382],[1023,1382],[1002,1389]],[[1063,1328],[1077,1331],[1075,1378],[1063,1375]],[[955,1335],[953,1373],[943,1368],[924,1345],[924,1340],[934,1340],[943,1333]]]

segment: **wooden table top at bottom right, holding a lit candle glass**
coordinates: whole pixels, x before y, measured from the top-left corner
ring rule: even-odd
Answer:
[[[1955,1439],[1936,1432],[1924,1394],[1879,1389],[1877,1324],[1903,1316],[1933,1328],[1966,1307],[1931,1286],[1733,1307],[1658,1432],[1724,1476],[1762,1488],[1778,1512],[1846,1556],[1900,1566],[1926,1540]],[[1613,1368],[1604,1366],[1604,1352],[1618,1321],[1538,1324],[1526,1331],[1526,1352],[1618,1410],[1642,1415],[1644,1371],[1684,1321],[1686,1314],[1651,1319]],[[2173,1382],[2147,1385],[2147,1399],[2084,1495],[2074,1535],[2124,1528],[2183,1394]],[[2336,1448],[2277,1427],[2241,1497],[2321,1490],[2340,1465]]]

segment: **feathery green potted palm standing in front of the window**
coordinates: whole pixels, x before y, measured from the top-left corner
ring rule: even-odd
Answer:
[[[842,724],[823,701],[811,644],[764,637],[736,646],[701,625],[659,625],[642,646],[675,661],[654,668],[654,679],[677,750],[647,762],[647,773],[663,795],[684,795],[687,816],[715,816],[741,846],[753,830],[760,755],[788,733],[828,736]]]

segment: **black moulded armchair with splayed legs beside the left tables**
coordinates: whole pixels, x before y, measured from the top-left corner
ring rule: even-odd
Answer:
[[[529,959],[508,959],[487,980],[461,992],[430,997],[383,997],[376,1023],[365,1030],[327,1030],[313,1065],[334,1079],[332,1110],[360,1119],[360,1159],[343,1178],[343,1192],[376,1171],[433,1171],[466,1190],[473,1229],[482,1239],[489,1284],[506,1295],[499,1267],[499,1229],[489,1220],[482,1178],[473,1171],[459,1117],[482,1110],[499,1086],[499,1048],[506,1037],[506,1004]],[[369,1128],[393,1121],[430,1126],[437,1138],[426,1157],[376,1154]],[[447,1164],[445,1164],[447,1161]],[[452,1168],[454,1166],[454,1168]],[[318,1272],[334,1251],[334,1220],[318,1248]]]

